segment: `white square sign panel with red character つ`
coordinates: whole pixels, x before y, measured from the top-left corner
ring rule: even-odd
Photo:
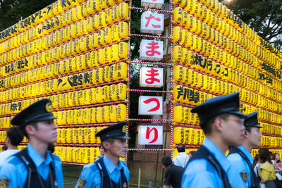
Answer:
[[[162,96],[140,96],[139,115],[163,115]]]

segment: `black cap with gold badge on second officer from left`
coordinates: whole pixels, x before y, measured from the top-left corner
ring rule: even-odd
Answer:
[[[120,122],[109,127],[106,129],[101,130],[95,134],[95,137],[100,137],[101,141],[104,141],[107,138],[116,138],[116,139],[130,139],[130,137],[126,136],[126,125],[127,122]]]

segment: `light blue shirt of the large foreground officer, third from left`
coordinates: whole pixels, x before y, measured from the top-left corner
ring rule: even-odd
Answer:
[[[221,150],[208,138],[204,139],[203,145],[207,147],[209,152],[214,154],[214,157],[227,175],[229,162],[225,154],[223,154]],[[186,166],[181,181],[181,187],[221,188],[223,187],[223,183],[221,177],[219,177],[219,174],[211,163],[205,159],[195,159]]]

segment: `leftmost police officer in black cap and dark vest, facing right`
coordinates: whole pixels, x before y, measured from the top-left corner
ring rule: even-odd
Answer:
[[[48,144],[57,139],[58,126],[51,111],[51,101],[42,99],[11,120],[29,142],[2,166],[0,184],[4,187],[63,187],[61,159],[47,151]]]

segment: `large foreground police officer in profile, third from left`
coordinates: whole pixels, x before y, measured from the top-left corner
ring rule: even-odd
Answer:
[[[185,168],[181,187],[231,187],[225,156],[229,146],[240,146],[245,115],[239,111],[239,93],[219,96],[192,108],[206,136]]]

